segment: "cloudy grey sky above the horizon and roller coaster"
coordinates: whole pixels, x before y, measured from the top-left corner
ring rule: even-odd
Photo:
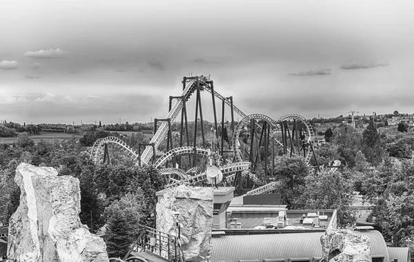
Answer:
[[[411,0],[2,0],[0,119],[163,119],[191,73],[273,119],[413,114],[412,14]]]

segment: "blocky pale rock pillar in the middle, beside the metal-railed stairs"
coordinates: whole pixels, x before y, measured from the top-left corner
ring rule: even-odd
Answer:
[[[177,234],[180,212],[181,246],[186,261],[207,261],[211,256],[213,229],[213,188],[180,185],[164,194],[157,203],[157,230]]]

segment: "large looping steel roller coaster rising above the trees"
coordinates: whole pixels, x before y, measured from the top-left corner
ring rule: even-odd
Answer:
[[[153,164],[160,169],[161,174],[169,179],[167,187],[180,184],[197,185],[209,182],[217,185],[232,185],[236,193],[263,194],[275,190],[277,182],[270,181],[273,177],[275,165],[275,150],[293,156],[302,155],[306,163],[315,158],[313,151],[313,128],[311,124],[299,114],[287,114],[279,119],[272,119],[264,114],[245,114],[233,103],[233,97],[223,97],[215,91],[210,77],[203,75],[197,77],[184,77],[183,91],[179,97],[170,97],[169,112],[164,119],[155,119],[154,137],[150,143],[140,144],[138,153],[132,150],[124,141],[117,137],[98,139],[92,146],[90,158],[96,164],[110,162],[108,144],[115,144],[123,150],[128,157],[136,161],[136,165]],[[206,130],[204,128],[203,110],[201,107],[201,92],[211,94],[213,103],[214,128],[210,130],[213,139],[210,139],[209,148],[206,143]],[[190,141],[188,126],[187,103],[195,94],[195,124],[193,141]],[[216,99],[221,100],[221,134],[219,134],[219,121],[217,120]],[[172,103],[175,101],[175,103]],[[224,114],[226,106],[230,108],[232,140],[228,140],[225,148]],[[181,113],[179,145],[175,147],[172,139],[172,122],[177,120]],[[235,126],[234,114],[239,114],[242,120]],[[197,123],[199,119],[199,124]],[[161,124],[157,126],[157,123]],[[197,145],[197,126],[201,128],[201,146]],[[249,130],[250,129],[250,130]],[[248,132],[248,134],[246,134]],[[242,137],[249,137],[248,144],[240,143]],[[156,159],[156,152],[161,142],[166,139],[166,153]],[[243,143],[243,142],[242,142]],[[141,147],[144,152],[141,153]],[[183,170],[181,157],[188,156],[191,168]],[[228,156],[231,157],[228,157]],[[209,165],[201,167],[200,157],[208,157]],[[270,156],[270,163],[269,162]],[[101,161],[103,159],[103,161]],[[169,167],[168,164],[171,164]],[[165,165],[165,168],[162,168]],[[270,166],[269,166],[270,165]],[[335,172],[340,165],[339,161],[333,163],[331,172]],[[264,167],[264,177],[268,183],[254,188],[260,182],[257,179],[259,168]],[[268,170],[270,168],[270,170]],[[313,172],[319,170],[319,165],[311,167]],[[263,171],[263,170],[262,170]],[[243,185],[244,188],[243,188]]]

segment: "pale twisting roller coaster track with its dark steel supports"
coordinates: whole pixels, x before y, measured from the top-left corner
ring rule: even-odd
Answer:
[[[113,143],[115,145],[118,145],[118,148],[123,150],[125,154],[134,159],[136,161],[136,165],[148,165],[150,164],[150,161],[152,159],[155,159],[155,152],[159,148],[159,145],[161,142],[169,138],[171,134],[170,130],[170,123],[177,120],[177,117],[179,116],[181,112],[181,135],[183,135],[183,128],[182,128],[182,121],[184,112],[186,111],[186,102],[192,97],[193,94],[196,93],[197,99],[199,99],[200,92],[206,91],[209,92],[212,95],[213,99],[213,106],[215,106],[215,99],[219,99],[223,103],[223,111],[224,111],[224,104],[228,105],[232,112],[232,118],[233,118],[233,112],[237,113],[240,117],[242,117],[242,120],[239,121],[237,126],[233,130],[233,137],[231,142],[229,143],[231,145],[230,152],[233,153],[233,161],[217,161],[215,164],[219,165],[217,168],[221,171],[221,173],[224,176],[224,179],[220,182],[221,185],[233,185],[235,182],[235,177],[237,174],[244,177],[249,177],[252,181],[257,181],[257,178],[255,177],[255,174],[250,172],[250,169],[252,168],[252,165],[255,165],[253,153],[250,152],[249,159],[244,159],[246,157],[243,157],[242,150],[240,148],[240,134],[243,130],[246,129],[246,126],[250,123],[250,128],[253,127],[253,129],[257,130],[258,132],[262,131],[262,134],[260,135],[260,141],[259,145],[261,144],[262,137],[264,137],[264,140],[266,141],[272,141],[273,145],[278,146],[279,148],[283,148],[284,154],[289,154],[290,156],[293,154],[302,154],[305,158],[306,163],[309,163],[311,161],[311,158],[315,155],[313,152],[313,139],[314,139],[314,132],[313,128],[311,126],[311,123],[309,123],[305,117],[302,117],[299,114],[286,114],[283,117],[280,117],[279,119],[275,120],[271,117],[268,117],[264,114],[246,114],[239,108],[237,108],[236,105],[233,103],[233,97],[224,97],[221,94],[219,94],[217,91],[213,88],[213,81],[210,81],[210,77],[205,77],[203,75],[196,76],[196,77],[184,77],[183,83],[183,91],[181,92],[181,95],[179,97],[174,97],[176,99],[175,103],[172,105],[172,97],[170,97],[170,110],[168,114],[166,115],[165,119],[162,120],[168,120],[168,121],[162,121],[159,128],[156,129],[156,132],[154,136],[152,137],[150,143],[146,145],[146,148],[142,154],[139,154],[135,152],[132,148],[130,148],[124,141],[121,139],[118,139],[117,137],[105,137],[103,139],[98,139],[95,144],[92,146],[92,150],[90,152],[90,158],[92,161],[94,161],[96,164],[101,163],[102,155],[104,155],[104,151],[108,150],[108,144]],[[197,108],[197,105],[196,105]],[[198,108],[197,108],[198,109]],[[196,109],[196,119],[197,121],[197,109]],[[215,114],[215,111],[214,111]],[[224,113],[223,113],[224,114]],[[201,116],[201,103],[200,103],[200,116]],[[186,117],[187,118],[187,117]],[[217,133],[217,118],[215,116],[216,121],[216,133],[215,136],[219,137],[219,134]],[[222,122],[224,119],[221,120]],[[201,119],[202,122],[202,119]],[[297,123],[301,123],[302,127],[304,127],[303,131],[304,134],[301,134],[299,139],[299,130],[297,128]],[[197,128],[197,122],[196,122],[196,128]],[[233,125],[234,126],[234,125]],[[202,126],[201,126],[202,128]],[[272,132],[270,132],[272,131]],[[188,133],[188,130],[186,130]],[[302,130],[301,130],[302,132]],[[277,135],[279,134],[279,135]],[[252,132],[252,137],[254,137],[254,134]],[[171,137],[172,139],[172,137]],[[253,139],[253,138],[252,138]],[[168,143],[168,142],[167,142]],[[268,146],[268,142],[265,143],[265,150],[266,144]],[[253,148],[253,143],[252,143]],[[223,151],[223,150],[221,150]],[[224,152],[224,151],[223,151]],[[159,159],[156,161],[152,161],[152,164],[155,165],[155,167],[160,168],[161,174],[166,175],[168,177],[168,185],[167,187],[173,187],[180,184],[189,184],[189,185],[196,185],[197,183],[200,183],[202,181],[206,181],[208,179],[206,175],[206,170],[202,170],[201,168],[194,166],[193,168],[190,168],[189,170],[181,170],[177,167],[172,168],[161,168],[161,166],[166,163],[166,161],[177,157],[179,155],[185,155],[185,154],[197,154],[201,156],[207,156],[209,158],[217,157],[220,158],[222,156],[222,153],[215,154],[215,152],[212,152],[209,148],[200,148],[195,146],[195,143],[193,145],[186,146],[180,146],[177,148],[172,148],[168,150],[165,154],[163,154]],[[266,151],[266,155],[268,152]],[[214,155],[214,156],[213,156]],[[273,157],[273,154],[272,154]],[[267,161],[267,158],[265,158]],[[334,161],[333,166],[339,167],[340,161]],[[267,166],[267,162],[266,162]],[[319,169],[319,166],[317,167]],[[335,172],[337,168],[333,168],[330,170],[330,172]],[[274,190],[277,186],[277,182],[272,181],[270,183],[267,183],[265,185],[260,186],[259,188],[251,189],[250,191],[246,192],[246,194],[263,194],[266,192],[270,192],[271,190]]]

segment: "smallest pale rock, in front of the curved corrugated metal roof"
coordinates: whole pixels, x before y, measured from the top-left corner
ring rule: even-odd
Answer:
[[[326,230],[321,236],[321,261],[371,262],[371,239],[351,230]]]

